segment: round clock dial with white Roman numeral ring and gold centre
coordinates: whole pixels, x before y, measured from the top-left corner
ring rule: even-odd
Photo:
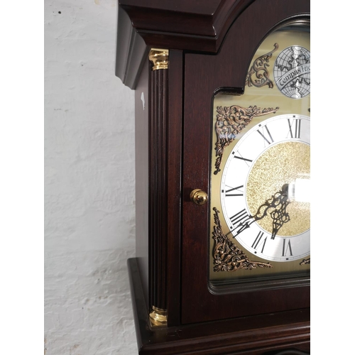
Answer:
[[[266,260],[310,254],[309,129],[307,116],[267,119],[226,160],[221,202],[229,234]]]

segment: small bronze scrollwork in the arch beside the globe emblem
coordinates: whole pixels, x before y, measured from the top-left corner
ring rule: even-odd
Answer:
[[[249,87],[263,87],[268,85],[269,88],[273,88],[273,82],[270,80],[268,72],[268,67],[270,66],[268,62],[273,56],[275,50],[278,49],[278,43],[275,43],[273,46],[274,49],[271,50],[271,52],[256,58],[256,60],[253,62],[253,65],[251,65],[251,68],[246,75],[246,85]]]

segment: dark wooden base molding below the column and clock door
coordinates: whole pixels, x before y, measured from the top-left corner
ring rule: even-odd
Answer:
[[[136,258],[128,261],[138,354],[310,354],[310,310],[151,327]]]

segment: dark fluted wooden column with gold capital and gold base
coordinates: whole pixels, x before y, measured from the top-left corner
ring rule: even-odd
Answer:
[[[149,120],[149,278],[151,322],[167,322],[168,50],[152,49]]]

